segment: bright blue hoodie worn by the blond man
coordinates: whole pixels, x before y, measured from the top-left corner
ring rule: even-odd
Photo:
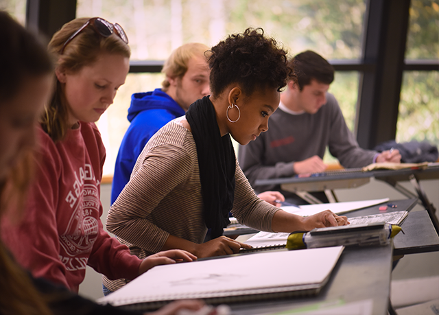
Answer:
[[[134,93],[128,109],[130,127],[126,130],[112,178],[111,204],[116,201],[123,187],[130,180],[137,157],[148,140],[172,119],[185,115],[180,105],[161,89],[153,92]]]

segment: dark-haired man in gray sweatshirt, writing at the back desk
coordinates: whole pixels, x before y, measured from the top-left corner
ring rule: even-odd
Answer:
[[[239,146],[239,164],[255,191],[281,191],[280,187],[254,186],[257,179],[324,172],[327,166],[322,159],[327,146],[346,168],[401,161],[397,150],[380,154],[359,148],[337,100],[327,92],[334,79],[334,69],[327,60],[313,51],[304,51],[290,62],[297,80],[289,81],[281,94],[268,132]],[[290,200],[295,198],[292,193],[281,192]]]

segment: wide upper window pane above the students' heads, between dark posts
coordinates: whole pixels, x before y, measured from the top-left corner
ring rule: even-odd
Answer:
[[[361,54],[364,0],[78,0],[77,16],[118,22],[132,60],[164,60],[183,43],[215,45],[227,34],[263,27],[292,54],[305,49],[327,59]]]

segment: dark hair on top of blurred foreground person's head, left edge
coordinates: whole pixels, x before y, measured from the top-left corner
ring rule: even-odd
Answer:
[[[46,48],[7,12],[0,11],[0,101],[18,93],[23,80],[53,70]]]

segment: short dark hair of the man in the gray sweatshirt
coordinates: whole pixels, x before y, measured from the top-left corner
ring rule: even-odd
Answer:
[[[311,84],[313,79],[324,84],[331,84],[334,80],[334,67],[314,51],[307,50],[297,54],[289,61],[289,65],[294,66],[300,91],[303,86]]]

